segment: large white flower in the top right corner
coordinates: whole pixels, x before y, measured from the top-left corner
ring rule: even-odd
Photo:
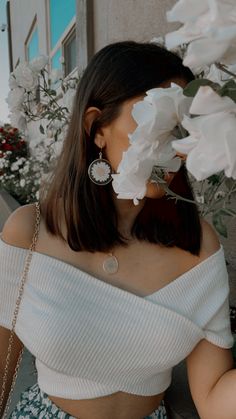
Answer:
[[[190,42],[184,65],[198,69],[217,61],[235,62],[235,0],[179,0],[167,19],[183,23],[179,30],[166,35],[166,45],[171,49]]]

